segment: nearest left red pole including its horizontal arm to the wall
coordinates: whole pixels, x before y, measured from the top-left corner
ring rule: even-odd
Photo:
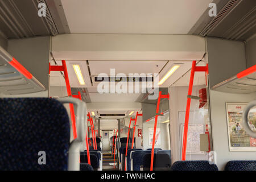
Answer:
[[[66,82],[68,96],[72,96],[71,86],[69,84],[68,70],[67,70],[66,61],[65,60],[61,60],[61,63],[62,63],[62,66],[56,66],[56,65],[51,66],[49,64],[49,73],[51,73],[51,71],[63,71],[64,72],[64,76],[65,76],[65,82]],[[76,139],[77,138],[76,117],[75,117],[75,111],[74,111],[73,104],[69,104],[69,108],[70,108],[70,114],[71,114],[73,138]]]

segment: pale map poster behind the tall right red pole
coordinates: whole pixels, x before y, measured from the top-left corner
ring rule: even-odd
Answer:
[[[181,124],[182,140],[184,133],[184,123]],[[200,151],[200,134],[204,134],[203,123],[188,124],[187,155],[205,155],[206,152]]]

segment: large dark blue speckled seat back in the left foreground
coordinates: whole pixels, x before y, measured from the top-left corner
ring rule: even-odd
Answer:
[[[1,98],[0,108],[0,170],[68,169],[70,129],[63,104],[51,98]],[[46,152],[46,164],[38,163],[39,151]]]

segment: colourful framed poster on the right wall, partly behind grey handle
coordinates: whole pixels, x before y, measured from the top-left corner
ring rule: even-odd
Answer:
[[[230,151],[256,151],[256,139],[246,134],[242,126],[242,111],[246,105],[226,103]],[[249,113],[249,126],[251,130],[256,131],[256,111]]]

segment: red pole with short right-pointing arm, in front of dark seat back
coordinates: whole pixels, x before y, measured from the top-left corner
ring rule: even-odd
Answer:
[[[162,92],[159,92],[158,96],[158,104],[156,105],[156,115],[155,115],[155,125],[154,125],[154,133],[153,133],[153,140],[152,140],[152,150],[151,150],[151,162],[150,162],[150,171],[153,171],[153,163],[154,163],[154,150],[155,150],[155,133],[156,133],[156,126],[158,124],[158,114],[159,114],[159,106],[161,98],[170,98],[169,93],[167,95],[162,95]]]

